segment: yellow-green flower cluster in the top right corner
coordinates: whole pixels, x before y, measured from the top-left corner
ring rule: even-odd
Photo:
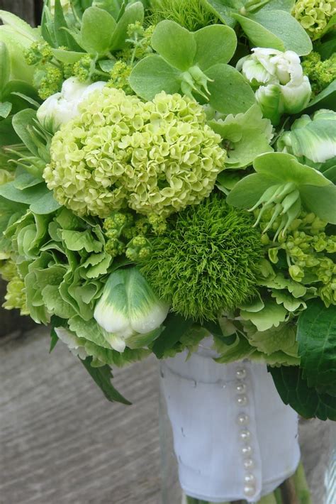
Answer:
[[[335,13],[336,0],[298,0],[293,9],[293,16],[313,40],[323,35],[327,22]]]

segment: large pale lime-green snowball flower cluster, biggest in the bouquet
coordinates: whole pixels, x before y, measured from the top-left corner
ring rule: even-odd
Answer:
[[[128,206],[167,217],[210,195],[225,150],[194,99],[162,92],[144,103],[103,88],[80,111],[52,139],[44,172],[75,214],[106,218]]]

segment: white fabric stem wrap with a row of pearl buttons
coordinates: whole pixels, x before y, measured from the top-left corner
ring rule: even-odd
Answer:
[[[296,471],[298,417],[264,364],[213,356],[200,346],[187,361],[185,353],[162,361],[181,488],[212,503],[254,503]]]

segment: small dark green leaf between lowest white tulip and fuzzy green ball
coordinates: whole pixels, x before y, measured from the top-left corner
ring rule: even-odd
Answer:
[[[157,358],[162,358],[165,351],[172,349],[191,324],[193,324],[191,319],[184,319],[177,313],[169,313],[164,321],[164,330],[152,346]]]

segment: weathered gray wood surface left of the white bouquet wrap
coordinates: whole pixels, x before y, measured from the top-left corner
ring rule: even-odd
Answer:
[[[158,504],[154,359],[116,371],[127,407],[49,343],[46,330],[0,343],[0,503]]]

